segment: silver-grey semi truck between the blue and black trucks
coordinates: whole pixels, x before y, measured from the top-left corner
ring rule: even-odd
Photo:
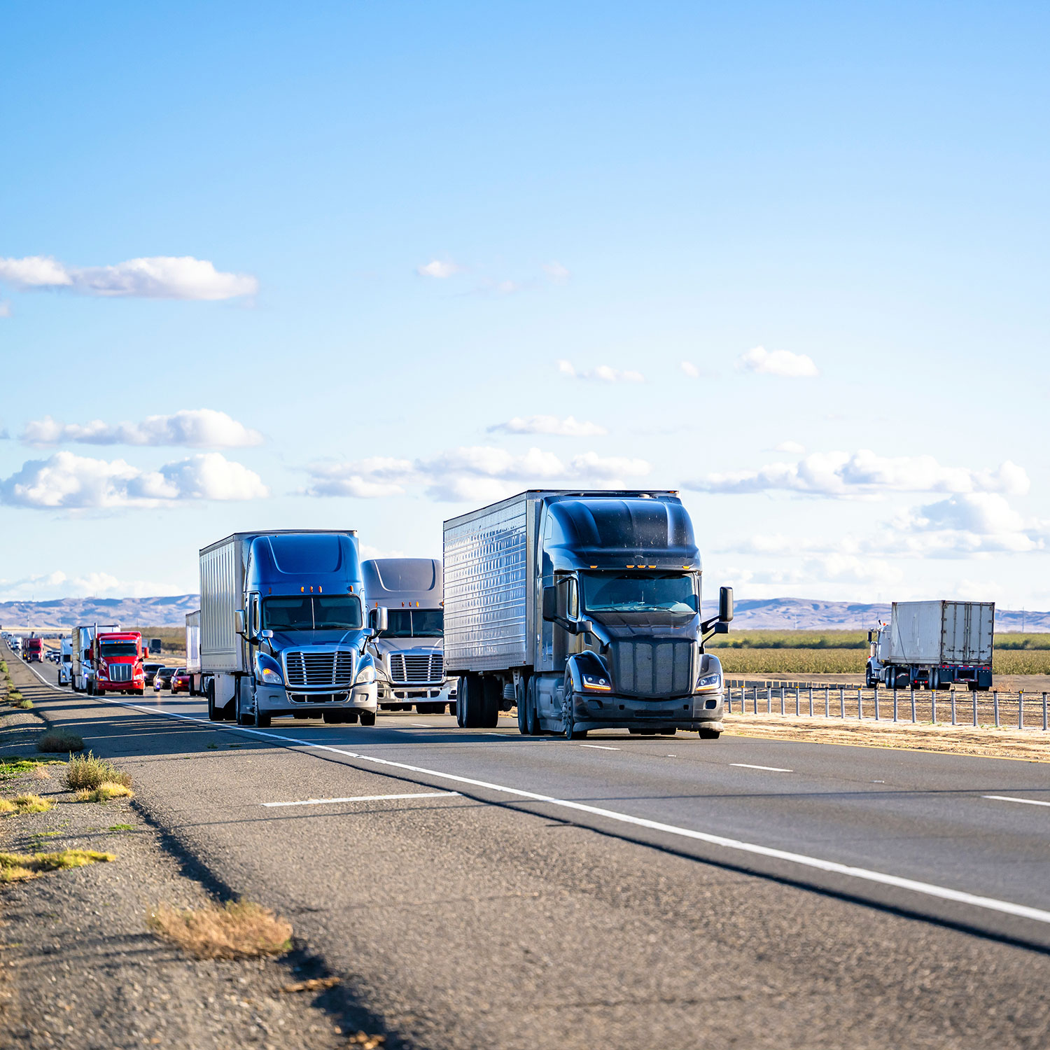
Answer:
[[[369,608],[386,609],[386,629],[371,643],[379,707],[441,714],[456,704],[444,672],[441,562],[377,558],[361,563]]]

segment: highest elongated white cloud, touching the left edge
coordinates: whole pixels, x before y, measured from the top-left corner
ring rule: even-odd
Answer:
[[[0,280],[22,291],[67,289],[81,295],[148,299],[232,299],[258,291],[254,277],[222,273],[207,259],[191,255],[156,255],[98,267],[70,267],[41,255],[2,258]]]

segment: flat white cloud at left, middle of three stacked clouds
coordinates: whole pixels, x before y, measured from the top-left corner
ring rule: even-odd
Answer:
[[[25,424],[21,440],[43,447],[66,442],[85,445],[184,445],[187,448],[244,448],[262,442],[249,429],[214,408],[185,408],[171,416],[147,416],[141,423],[60,423],[45,416]]]

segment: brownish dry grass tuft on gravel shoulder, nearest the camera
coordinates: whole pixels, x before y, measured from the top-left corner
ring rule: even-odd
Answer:
[[[251,901],[204,908],[162,904],[147,916],[146,925],[197,959],[279,956],[292,946],[291,923]]]

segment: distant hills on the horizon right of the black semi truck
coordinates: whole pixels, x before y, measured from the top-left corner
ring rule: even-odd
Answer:
[[[705,603],[706,604],[706,603]],[[818,602],[804,597],[741,598],[733,628],[740,631],[861,631],[889,618],[889,603]],[[995,610],[995,631],[1050,631],[1050,612]]]

